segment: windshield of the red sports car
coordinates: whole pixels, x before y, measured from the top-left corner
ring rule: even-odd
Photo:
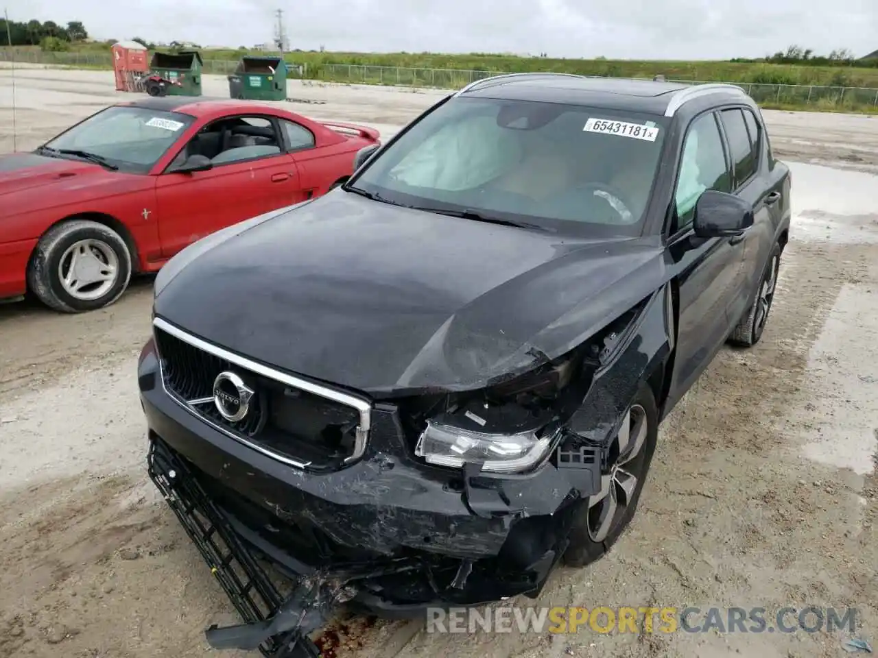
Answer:
[[[110,107],[45,146],[56,151],[83,151],[119,169],[146,173],[192,121],[193,117],[178,112]]]

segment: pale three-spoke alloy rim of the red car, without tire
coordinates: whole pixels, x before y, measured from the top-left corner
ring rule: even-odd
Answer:
[[[58,280],[70,297],[90,302],[103,297],[119,276],[119,257],[101,240],[78,240],[58,262]]]

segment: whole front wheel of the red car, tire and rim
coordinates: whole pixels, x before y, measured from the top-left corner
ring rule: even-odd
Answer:
[[[74,259],[79,260],[86,283],[75,277],[64,282],[63,275],[69,273]],[[27,268],[27,285],[49,308],[81,313],[119,299],[131,272],[131,253],[119,233],[97,222],[71,219],[53,226],[40,238]],[[111,278],[98,281],[102,275]]]

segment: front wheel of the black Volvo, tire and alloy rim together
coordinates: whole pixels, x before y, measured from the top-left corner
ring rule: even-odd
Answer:
[[[655,396],[643,383],[608,447],[601,490],[581,503],[568,536],[567,566],[585,567],[600,559],[622,536],[637,509],[658,437]]]

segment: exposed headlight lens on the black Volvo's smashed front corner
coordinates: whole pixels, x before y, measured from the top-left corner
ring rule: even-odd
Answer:
[[[414,454],[436,466],[482,462],[485,471],[518,473],[540,461],[550,445],[551,437],[541,438],[536,431],[489,434],[428,420]]]

